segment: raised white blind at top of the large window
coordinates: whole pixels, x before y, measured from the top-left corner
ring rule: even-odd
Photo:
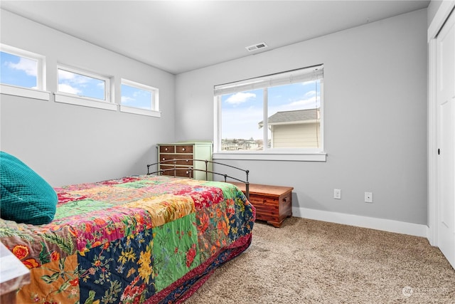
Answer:
[[[259,88],[274,87],[277,85],[287,85],[290,83],[304,83],[306,81],[319,80],[323,78],[323,65],[314,65],[309,68],[299,68],[282,73],[265,75],[258,78],[236,81],[235,83],[225,83],[215,85],[214,95],[225,95],[230,93],[256,90]]]

